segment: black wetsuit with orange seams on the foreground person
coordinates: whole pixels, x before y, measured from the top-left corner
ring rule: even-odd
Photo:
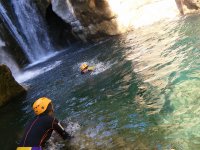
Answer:
[[[35,117],[26,127],[25,134],[20,142],[20,147],[44,146],[55,130],[64,140],[71,136],[64,130],[58,120],[49,115]]]

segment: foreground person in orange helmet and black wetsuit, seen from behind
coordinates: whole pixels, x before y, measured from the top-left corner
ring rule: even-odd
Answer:
[[[28,123],[17,150],[42,150],[53,130],[63,140],[72,138],[54,117],[53,104],[49,98],[42,97],[36,100],[33,103],[33,110],[36,116]]]

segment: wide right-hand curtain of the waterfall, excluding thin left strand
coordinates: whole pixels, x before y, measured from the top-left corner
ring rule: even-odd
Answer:
[[[37,7],[32,0],[12,0],[20,29],[25,36],[29,50],[26,52],[29,59],[37,61],[52,50],[45,23],[38,15]]]

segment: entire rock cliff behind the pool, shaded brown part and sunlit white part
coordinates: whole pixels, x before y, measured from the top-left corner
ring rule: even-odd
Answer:
[[[38,0],[39,1],[39,0]],[[46,0],[48,1],[48,0]],[[198,0],[49,0],[80,39],[117,35],[142,25],[199,10]]]

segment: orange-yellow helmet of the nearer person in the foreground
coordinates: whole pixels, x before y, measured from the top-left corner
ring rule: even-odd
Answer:
[[[36,115],[42,114],[47,106],[51,103],[51,100],[46,97],[41,97],[33,103],[33,110]]]

